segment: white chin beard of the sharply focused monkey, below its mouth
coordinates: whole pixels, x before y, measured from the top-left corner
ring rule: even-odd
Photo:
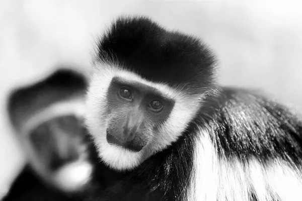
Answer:
[[[139,166],[145,159],[145,147],[138,152],[109,144],[107,141],[98,146],[99,156],[110,168],[124,172]]]

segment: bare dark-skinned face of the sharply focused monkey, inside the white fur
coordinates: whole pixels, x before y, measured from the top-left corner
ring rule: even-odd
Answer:
[[[107,91],[106,139],[133,152],[154,140],[175,105],[159,91],[139,82],[113,77]]]

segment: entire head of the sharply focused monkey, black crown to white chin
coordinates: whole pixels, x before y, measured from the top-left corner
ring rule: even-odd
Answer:
[[[98,43],[87,93],[100,158],[130,170],[177,141],[211,90],[213,67],[199,39],[145,17],[118,18]]]

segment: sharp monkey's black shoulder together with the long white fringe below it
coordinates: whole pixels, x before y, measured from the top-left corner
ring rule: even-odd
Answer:
[[[206,103],[194,122],[201,135],[189,195],[198,198],[188,200],[300,200],[301,121],[238,88]]]

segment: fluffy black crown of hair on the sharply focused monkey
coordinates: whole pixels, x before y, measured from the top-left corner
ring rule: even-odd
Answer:
[[[98,43],[98,59],[118,62],[150,81],[197,90],[211,83],[214,66],[214,56],[198,38],[168,31],[147,17],[112,23]]]

